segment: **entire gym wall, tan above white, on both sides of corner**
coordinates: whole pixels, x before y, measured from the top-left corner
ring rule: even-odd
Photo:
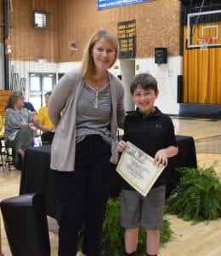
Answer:
[[[132,72],[147,71],[155,75],[161,90],[157,104],[166,113],[178,113],[177,76],[182,74],[178,0],[152,0],[99,11],[96,0],[16,0],[12,3],[13,10],[9,13],[10,65],[22,77],[27,79],[30,72],[37,70],[65,73],[78,67],[92,32],[105,28],[116,33],[118,22],[136,20],[136,59]],[[32,27],[33,10],[48,13],[48,29]],[[3,20],[2,12],[0,20]],[[77,42],[77,50],[69,49],[70,41]],[[0,26],[1,42],[3,26]],[[167,47],[166,64],[155,63],[155,47]],[[121,68],[118,61],[111,71],[120,74]],[[128,84],[124,85],[128,90]],[[3,84],[1,87],[3,89]]]

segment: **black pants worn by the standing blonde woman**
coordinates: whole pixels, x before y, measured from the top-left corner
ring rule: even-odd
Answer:
[[[76,255],[82,222],[82,253],[100,255],[105,206],[115,167],[110,163],[110,157],[110,144],[97,135],[88,136],[77,143],[74,172],[54,171],[61,207],[59,256]]]

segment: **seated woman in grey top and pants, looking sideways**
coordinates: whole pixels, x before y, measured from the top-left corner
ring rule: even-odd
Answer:
[[[30,113],[24,105],[24,96],[20,91],[14,91],[5,107],[5,144],[12,148],[14,167],[21,168],[26,148],[31,146],[33,131],[37,131]]]

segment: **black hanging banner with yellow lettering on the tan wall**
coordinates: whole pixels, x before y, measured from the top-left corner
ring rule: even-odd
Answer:
[[[119,59],[136,57],[136,20],[118,22],[117,38],[120,45]]]

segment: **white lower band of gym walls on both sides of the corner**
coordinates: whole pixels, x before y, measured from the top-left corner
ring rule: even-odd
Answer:
[[[2,54],[1,54],[2,53]],[[157,82],[160,94],[156,100],[156,106],[163,113],[178,114],[177,103],[177,78],[182,74],[182,56],[168,57],[166,64],[157,65],[154,58],[117,60],[111,72],[114,74],[122,74],[122,82],[124,83],[125,104],[131,108],[131,96],[129,93],[130,80],[133,74],[140,72],[149,72],[153,75]],[[29,73],[67,73],[72,68],[80,67],[81,61],[62,62],[62,63],[39,63],[31,61],[11,61],[10,67],[14,66],[14,73],[19,73],[20,78],[26,78],[26,88],[29,86]],[[137,67],[137,68],[136,68]],[[3,89],[3,44],[0,44],[0,89]],[[28,98],[28,90],[26,89],[26,97]],[[130,99],[129,99],[130,98]]]

